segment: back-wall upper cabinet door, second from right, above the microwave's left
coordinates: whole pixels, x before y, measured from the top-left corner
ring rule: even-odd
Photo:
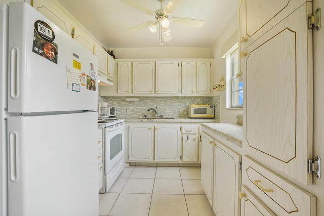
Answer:
[[[196,94],[196,62],[181,62],[181,94]]]

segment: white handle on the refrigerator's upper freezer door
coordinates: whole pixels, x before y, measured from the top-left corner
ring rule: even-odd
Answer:
[[[10,52],[10,97],[17,99],[19,97],[19,49],[14,47]]]

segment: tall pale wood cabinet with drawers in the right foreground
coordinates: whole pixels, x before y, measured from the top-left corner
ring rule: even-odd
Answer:
[[[316,215],[312,184],[311,1],[240,0],[244,74],[241,215]],[[283,177],[285,178],[283,178]]]

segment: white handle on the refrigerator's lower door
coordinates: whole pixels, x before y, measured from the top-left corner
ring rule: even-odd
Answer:
[[[14,131],[9,134],[9,176],[12,182],[19,180],[18,164],[18,133]]]

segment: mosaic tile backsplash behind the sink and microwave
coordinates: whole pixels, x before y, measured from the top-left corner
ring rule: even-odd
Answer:
[[[138,98],[138,101],[126,101],[126,98]],[[188,105],[214,104],[215,119],[220,118],[220,97],[100,97],[98,102],[107,102],[108,107],[117,108],[118,118],[139,118],[144,115],[153,117],[148,108],[157,106],[158,115],[174,118],[187,118]],[[127,110],[129,113],[127,113]]]

